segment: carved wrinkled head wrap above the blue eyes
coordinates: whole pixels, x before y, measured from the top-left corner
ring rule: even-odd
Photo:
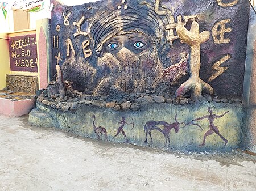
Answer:
[[[164,43],[164,22],[168,21],[155,13],[154,3],[128,1],[123,6],[115,5],[115,9],[98,15],[89,28],[94,48],[115,35],[131,32],[141,32],[159,45]]]

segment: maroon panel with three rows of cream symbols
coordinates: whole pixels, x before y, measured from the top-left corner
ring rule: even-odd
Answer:
[[[38,72],[35,34],[11,37],[9,50],[11,71]]]

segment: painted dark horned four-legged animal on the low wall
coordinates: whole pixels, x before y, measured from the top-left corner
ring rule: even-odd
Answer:
[[[179,129],[180,129],[179,125],[184,123],[184,122],[179,123],[177,121],[177,115],[175,116],[175,121],[176,122],[174,122],[172,124],[169,124],[168,122],[165,122],[165,121],[147,121],[146,124],[144,125],[144,131],[146,133],[145,143],[147,143],[147,135],[149,134],[150,138],[151,138],[151,144],[152,144],[153,140],[152,140],[151,131],[158,130],[158,131],[160,131],[160,133],[164,134],[164,138],[166,139],[164,147],[166,147],[167,140],[168,140],[168,146],[170,146],[170,131],[171,131],[171,129],[174,128],[175,133],[178,133]],[[162,126],[163,129],[159,128],[159,126]]]

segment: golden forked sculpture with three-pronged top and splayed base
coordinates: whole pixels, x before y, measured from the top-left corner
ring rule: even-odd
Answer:
[[[193,101],[201,97],[202,90],[207,91],[209,94],[213,94],[213,88],[208,83],[201,80],[199,76],[201,67],[200,44],[209,39],[209,31],[199,33],[199,24],[195,20],[192,23],[190,31],[188,31],[181,23],[177,25],[176,31],[180,39],[191,47],[189,58],[190,77],[177,89],[175,92],[176,97],[184,95],[189,90],[191,90],[191,99]]]

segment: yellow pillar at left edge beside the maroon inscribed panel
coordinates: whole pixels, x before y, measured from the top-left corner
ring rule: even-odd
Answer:
[[[6,33],[0,33],[0,90],[6,87],[6,74],[10,74],[9,45]]]

